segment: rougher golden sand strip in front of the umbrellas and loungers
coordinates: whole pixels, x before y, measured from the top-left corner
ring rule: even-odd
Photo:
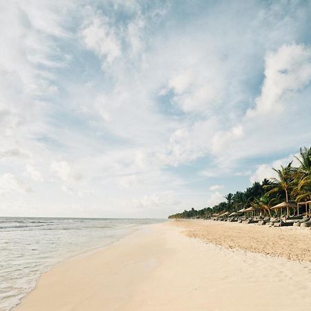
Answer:
[[[311,262],[310,227],[269,227],[212,220],[176,220],[174,225],[187,229],[187,236],[207,243]]]

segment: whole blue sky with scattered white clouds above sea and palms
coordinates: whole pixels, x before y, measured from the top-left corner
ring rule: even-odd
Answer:
[[[310,1],[0,1],[0,41],[0,216],[167,217],[310,147]]]

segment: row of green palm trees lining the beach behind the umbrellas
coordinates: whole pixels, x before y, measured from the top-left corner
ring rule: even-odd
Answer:
[[[293,167],[290,162],[286,167],[274,169],[277,178],[254,182],[245,191],[227,194],[224,202],[214,207],[196,210],[191,208],[169,218],[211,218],[213,214],[230,213],[239,209],[254,207],[261,214],[271,215],[275,211],[270,208],[281,202],[307,202],[311,200],[311,147],[300,149],[299,167]]]

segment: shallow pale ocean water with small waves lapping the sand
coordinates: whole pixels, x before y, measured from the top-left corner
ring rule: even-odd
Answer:
[[[163,221],[0,217],[0,311],[14,308],[39,276],[58,263]]]

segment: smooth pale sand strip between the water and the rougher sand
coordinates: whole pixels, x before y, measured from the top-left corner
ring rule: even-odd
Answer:
[[[46,272],[15,311],[311,310],[310,263],[189,238],[209,225],[220,237],[225,226],[236,227],[211,221],[145,226]],[[245,236],[254,227],[240,226]],[[259,228],[263,235],[276,229]]]

